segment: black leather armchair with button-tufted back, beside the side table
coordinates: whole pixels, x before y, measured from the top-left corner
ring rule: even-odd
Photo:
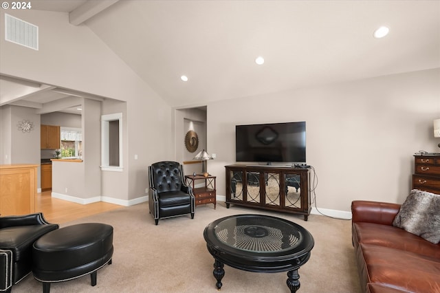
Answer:
[[[148,166],[148,204],[156,225],[159,219],[191,215],[194,219],[195,197],[184,182],[184,167],[178,162],[164,161]]]

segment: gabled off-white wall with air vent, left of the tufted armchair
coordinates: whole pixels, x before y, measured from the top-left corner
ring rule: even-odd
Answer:
[[[67,13],[8,10],[8,14],[39,26],[39,50],[5,41],[4,30],[0,30],[1,74],[126,102],[124,170],[102,179],[101,184],[106,185],[102,196],[120,191],[121,204],[144,196],[146,166],[174,157],[170,106],[86,25],[71,25]],[[0,23],[4,23],[4,11],[0,11]]]

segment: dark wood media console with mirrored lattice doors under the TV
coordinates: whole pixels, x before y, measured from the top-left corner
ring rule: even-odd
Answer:
[[[311,211],[310,171],[289,166],[229,165],[226,207],[230,204],[304,215]]]

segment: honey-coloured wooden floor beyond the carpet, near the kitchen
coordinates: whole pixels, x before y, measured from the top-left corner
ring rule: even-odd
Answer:
[[[63,199],[52,198],[51,193],[52,191],[37,193],[35,211],[43,213],[45,219],[52,224],[63,224],[89,215],[122,208],[118,204],[109,204],[108,202],[76,204]]]

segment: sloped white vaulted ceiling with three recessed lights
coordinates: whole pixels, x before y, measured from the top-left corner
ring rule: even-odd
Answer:
[[[84,21],[173,107],[440,67],[440,1],[33,0],[32,9]],[[390,34],[373,38],[381,25]],[[0,83],[4,94],[10,82]]]

